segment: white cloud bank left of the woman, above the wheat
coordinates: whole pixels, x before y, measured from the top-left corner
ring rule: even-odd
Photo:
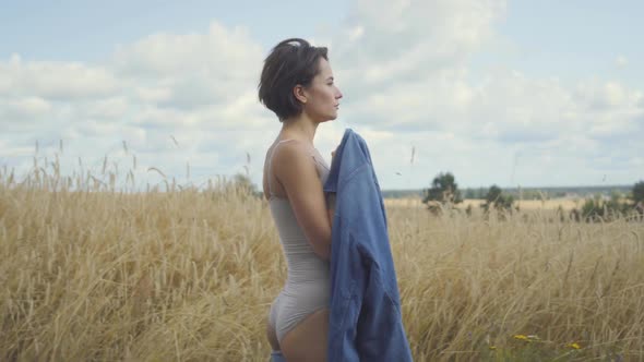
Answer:
[[[276,122],[257,101],[264,56],[247,29],[216,22],[205,33],[155,34],[120,46],[102,64],[13,56],[0,61],[0,124],[28,134],[5,140],[13,149],[63,138],[73,162],[75,156],[100,160],[115,152],[123,157],[126,141],[140,166],[168,174],[183,174],[189,160],[201,165],[195,172],[234,173],[246,156],[239,147],[258,152],[258,138],[276,133]],[[13,164],[31,165],[19,158]]]

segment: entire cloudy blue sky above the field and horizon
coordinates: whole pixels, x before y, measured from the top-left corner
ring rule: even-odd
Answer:
[[[152,167],[259,185],[281,129],[263,60],[302,37],[344,95],[315,147],[330,161],[351,128],[382,189],[644,180],[642,1],[0,2],[0,167],[17,174],[58,158],[139,186],[163,182]]]

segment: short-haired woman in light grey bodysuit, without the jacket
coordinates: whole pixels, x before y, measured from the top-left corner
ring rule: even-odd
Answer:
[[[286,283],[271,305],[267,337],[274,361],[325,361],[332,208],[322,191],[329,166],[313,146],[320,123],[337,118],[326,48],[293,38],[266,60],[260,101],[282,130],[266,153],[263,189],[288,265]]]

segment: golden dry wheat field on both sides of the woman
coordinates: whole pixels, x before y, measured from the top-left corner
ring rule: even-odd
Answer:
[[[0,170],[0,360],[269,360],[286,264],[266,202],[165,189]],[[416,361],[644,359],[641,220],[386,207]]]

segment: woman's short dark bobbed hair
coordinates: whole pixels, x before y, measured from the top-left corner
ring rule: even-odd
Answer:
[[[329,60],[325,47],[313,47],[309,41],[290,38],[276,45],[264,60],[260,77],[260,101],[277,114],[281,122],[298,116],[302,105],[293,94],[296,85],[308,87],[320,72],[320,58]]]

